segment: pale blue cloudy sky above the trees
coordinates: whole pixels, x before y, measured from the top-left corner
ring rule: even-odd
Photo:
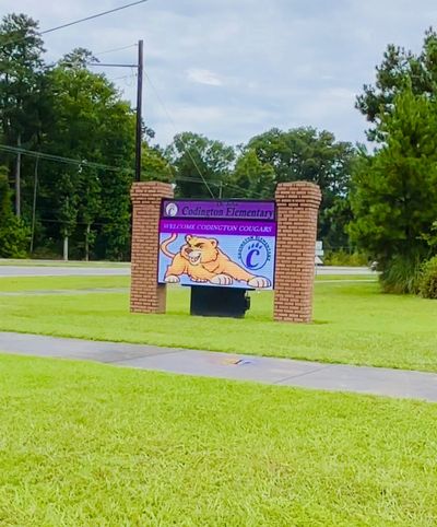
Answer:
[[[130,1],[0,0],[0,15],[48,30]],[[436,0],[149,0],[44,37],[47,61],[85,47],[121,63],[137,61],[143,39],[143,118],[162,145],[181,131],[236,145],[300,126],[355,143],[367,127],[355,97],[387,45],[418,51],[429,26]],[[133,69],[98,71],[135,105]]]

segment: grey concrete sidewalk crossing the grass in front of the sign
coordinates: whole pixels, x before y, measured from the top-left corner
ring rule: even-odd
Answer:
[[[437,402],[437,374],[0,332],[0,351]]]

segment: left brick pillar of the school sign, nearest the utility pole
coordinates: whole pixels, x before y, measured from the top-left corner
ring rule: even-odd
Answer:
[[[130,311],[165,313],[166,286],[157,283],[161,200],[174,197],[167,183],[134,183],[132,198],[132,254]]]

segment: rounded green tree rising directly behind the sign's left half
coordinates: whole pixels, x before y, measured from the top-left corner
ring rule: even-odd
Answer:
[[[235,160],[235,151],[221,141],[198,133],[175,136],[165,155],[176,176],[176,191],[184,198],[223,196]]]

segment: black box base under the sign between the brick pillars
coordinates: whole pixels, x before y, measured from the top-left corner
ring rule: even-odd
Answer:
[[[191,285],[191,315],[244,318],[249,307],[245,289]]]

